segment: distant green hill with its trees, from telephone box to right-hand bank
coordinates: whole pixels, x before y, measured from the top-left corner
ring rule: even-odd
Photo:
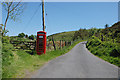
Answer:
[[[99,30],[101,30],[101,29],[97,29],[97,28],[79,29],[77,31],[69,31],[69,32],[56,33],[56,34],[48,36],[47,38],[49,40],[51,40],[52,36],[53,36],[54,40],[56,40],[56,41],[59,41],[59,40],[64,40],[64,41],[87,40],[95,32],[97,32]]]

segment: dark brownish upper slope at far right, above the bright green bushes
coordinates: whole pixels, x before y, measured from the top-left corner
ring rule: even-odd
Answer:
[[[111,27],[103,29],[101,32],[96,33],[95,36],[101,38],[102,41],[120,43],[120,22],[113,24]]]

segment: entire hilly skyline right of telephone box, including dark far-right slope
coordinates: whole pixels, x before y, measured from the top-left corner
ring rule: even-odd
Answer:
[[[73,40],[87,40],[92,36],[96,36],[101,38],[103,36],[104,41],[110,41],[120,43],[120,22],[113,24],[111,27],[107,27],[105,29],[79,29],[78,31],[69,31],[69,32],[62,32],[56,33],[53,35],[48,36],[49,40],[54,37],[54,40],[64,40],[64,41],[73,41]],[[102,38],[101,38],[102,39]]]

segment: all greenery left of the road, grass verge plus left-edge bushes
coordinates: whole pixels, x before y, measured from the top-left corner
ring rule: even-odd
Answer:
[[[21,33],[20,33],[21,34]],[[62,49],[47,51],[46,54],[37,55],[35,50],[15,49],[11,44],[13,37],[3,36],[2,40],[2,77],[3,78],[22,78],[26,77],[33,71],[39,69],[46,62],[54,59],[60,55],[67,53],[71,50],[79,41],[75,41],[71,46],[64,46]],[[15,36],[16,39],[20,39],[20,36]],[[15,39],[15,40],[16,40]],[[25,40],[25,35],[21,37]],[[32,39],[26,39],[27,41]],[[33,53],[33,54],[31,54]]]

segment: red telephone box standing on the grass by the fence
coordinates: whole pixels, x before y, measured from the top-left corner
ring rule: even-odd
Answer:
[[[46,52],[46,32],[44,31],[37,32],[36,51],[38,55]]]

